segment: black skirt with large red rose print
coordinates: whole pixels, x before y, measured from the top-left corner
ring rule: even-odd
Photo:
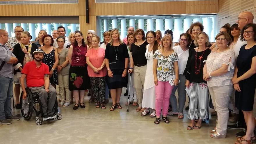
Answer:
[[[90,89],[90,78],[88,76],[87,65],[70,66],[69,69],[69,90],[87,90]]]

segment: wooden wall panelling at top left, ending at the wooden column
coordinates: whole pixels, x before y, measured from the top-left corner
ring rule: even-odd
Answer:
[[[72,16],[79,15],[78,4],[0,5],[0,16]]]

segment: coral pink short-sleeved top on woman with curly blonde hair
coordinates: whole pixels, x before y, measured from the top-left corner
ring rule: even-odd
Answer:
[[[94,67],[99,68],[104,61],[105,49],[99,47],[98,49],[88,49],[86,56],[89,57],[89,61]],[[97,73],[93,71],[91,67],[87,67],[89,77],[105,77],[107,70],[104,66],[102,70]]]

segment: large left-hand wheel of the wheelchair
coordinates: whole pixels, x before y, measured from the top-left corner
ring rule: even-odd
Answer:
[[[32,96],[27,92],[26,99],[22,98],[23,92],[20,95],[20,110],[23,118],[30,120],[33,114]]]

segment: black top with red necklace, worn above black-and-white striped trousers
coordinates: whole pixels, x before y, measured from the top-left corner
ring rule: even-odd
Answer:
[[[200,56],[202,56],[202,54],[204,53],[204,55],[202,56],[201,59],[201,68],[200,68],[200,72],[199,74],[195,73],[195,55],[197,53],[197,69],[199,69],[200,66]],[[205,63],[203,63],[203,61],[205,61],[207,59],[207,56],[211,53],[211,50],[208,48],[204,51],[200,51],[200,52],[196,52],[195,49],[191,49],[191,51],[189,52],[189,58],[188,58],[188,62],[186,65],[186,69],[184,70],[184,74],[187,80],[189,80],[190,83],[195,82],[195,83],[207,83],[205,80],[203,80],[203,68]]]

